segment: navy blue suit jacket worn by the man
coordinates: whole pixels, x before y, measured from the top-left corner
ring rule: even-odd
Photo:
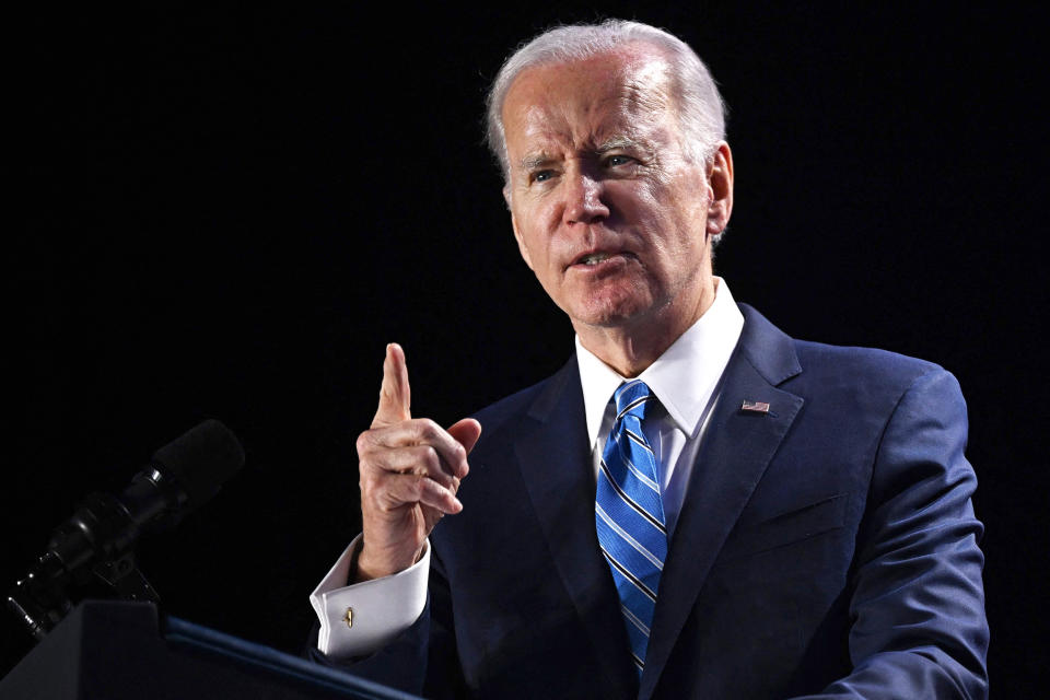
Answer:
[[[436,697],[985,697],[955,378],[742,310],[640,684],[598,551],[574,358],[477,415],[464,511],[431,536],[428,608],[354,670]]]

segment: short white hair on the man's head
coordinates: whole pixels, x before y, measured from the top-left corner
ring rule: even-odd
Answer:
[[[686,154],[709,162],[725,138],[725,105],[711,72],[689,45],[673,34],[640,22],[606,20],[602,24],[575,24],[548,30],[522,45],[503,63],[486,101],[486,142],[510,182],[503,102],[514,79],[537,66],[570,63],[606,54],[631,43],[657,48],[670,67],[670,92]]]

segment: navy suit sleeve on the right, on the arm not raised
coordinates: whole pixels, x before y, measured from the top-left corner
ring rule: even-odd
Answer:
[[[915,380],[886,424],[859,533],[853,672],[809,697],[988,697],[983,527],[966,440],[955,377]]]

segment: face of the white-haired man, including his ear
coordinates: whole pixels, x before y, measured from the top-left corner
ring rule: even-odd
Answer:
[[[682,148],[666,71],[652,50],[627,49],[528,69],[504,102],[514,234],[581,334],[698,317],[710,303],[710,240],[728,205],[709,220],[712,168]]]

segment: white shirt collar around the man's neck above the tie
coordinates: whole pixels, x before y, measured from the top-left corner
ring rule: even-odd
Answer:
[[[711,307],[638,376],[687,436],[699,429],[708,401],[744,329],[744,315],[733,301],[728,284],[718,277],[714,279],[715,296]],[[576,360],[593,448],[605,408],[616,388],[627,380],[584,348],[579,336]]]

